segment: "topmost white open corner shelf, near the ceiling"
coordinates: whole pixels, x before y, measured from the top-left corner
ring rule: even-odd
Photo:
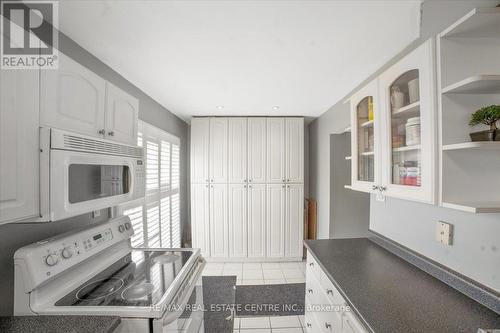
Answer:
[[[448,37],[500,37],[500,8],[476,8],[441,33]]]

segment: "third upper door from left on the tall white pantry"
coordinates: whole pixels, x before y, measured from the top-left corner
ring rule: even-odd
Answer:
[[[229,118],[229,183],[247,181],[247,118]]]

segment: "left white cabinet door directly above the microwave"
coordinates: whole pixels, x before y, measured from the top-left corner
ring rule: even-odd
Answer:
[[[104,79],[61,52],[59,69],[42,70],[40,78],[42,126],[103,137]]]

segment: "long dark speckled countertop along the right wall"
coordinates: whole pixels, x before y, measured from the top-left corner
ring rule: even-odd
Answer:
[[[372,332],[500,329],[500,315],[367,238],[304,243]]]

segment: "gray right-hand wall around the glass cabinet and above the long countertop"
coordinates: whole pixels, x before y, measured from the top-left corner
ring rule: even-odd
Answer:
[[[410,45],[359,87],[379,75],[423,40],[439,33],[475,7],[495,6],[500,1],[426,1],[423,3],[421,39]],[[356,91],[353,89],[353,91]],[[330,203],[328,186],[329,134],[340,133],[349,124],[348,107],[337,103],[310,125],[311,197],[318,201],[320,236],[331,234],[328,220]],[[334,199],[334,198],[333,198]],[[455,227],[453,246],[434,241],[434,225],[445,220]],[[445,266],[500,291],[500,214],[474,215],[416,202],[387,199],[370,201],[370,228]],[[332,236],[332,235],[330,235]],[[335,235],[333,235],[335,236]]]

